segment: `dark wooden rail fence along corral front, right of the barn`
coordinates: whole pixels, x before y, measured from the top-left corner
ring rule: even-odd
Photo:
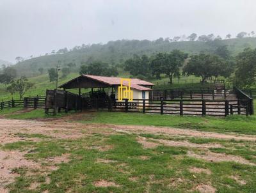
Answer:
[[[143,112],[156,114],[179,114],[201,116],[227,116],[228,114],[252,114],[246,100],[101,100],[97,109],[122,112]],[[244,105],[247,104],[247,105]]]

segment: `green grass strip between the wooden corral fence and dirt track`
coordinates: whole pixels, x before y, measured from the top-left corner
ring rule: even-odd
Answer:
[[[116,125],[150,125],[160,127],[189,128],[208,132],[235,132],[237,134],[256,134],[256,116],[170,116],[161,114],[142,114],[136,112],[96,112],[90,119],[81,123],[109,123]]]

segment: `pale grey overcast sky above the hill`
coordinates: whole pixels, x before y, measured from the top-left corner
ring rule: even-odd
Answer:
[[[0,0],[0,59],[82,43],[256,31],[255,0]]]

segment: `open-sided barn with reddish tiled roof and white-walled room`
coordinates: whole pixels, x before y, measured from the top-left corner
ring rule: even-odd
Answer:
[[[72,79],[65,84],[59,86],[59,88],[67,89],[79,89],[79,96],[83,96],[81,89],[90,88],[91,98],[111,98],[118,99],[118,86],[120,86],[121,77],[106,77],[99,75],[86,75],[82,74],[75,79]],[[149,99],[152,92],[153,83],[143,81],[141,79],[130,79],[130,88],[132,90],[132,98],[134,99]],[[125,86],[128,86],[126,81],[123,82]]]

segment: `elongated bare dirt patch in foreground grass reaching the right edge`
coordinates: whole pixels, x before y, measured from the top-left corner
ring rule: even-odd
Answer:
[[[248,164],[251,166],[256,166],[256,164],[249,162],[243,157],[239,157],[236,155],[227,155],[225,153],[213,153],[211,151],[206,151],[204,152],[204,154],[196,154],[193,151],[188,151],[188,156],[200,158],[203,160],[207,160],[209,162],[237,162],[239,164]]]

